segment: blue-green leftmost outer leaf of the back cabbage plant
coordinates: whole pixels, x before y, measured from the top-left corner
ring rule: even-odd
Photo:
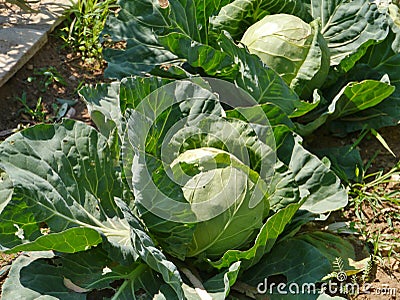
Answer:
[[[178,61],[176,55],[160,47],[157,34],[170,25],[169,9],[160,7],[158,1],[118,2],[121,10],[118,16],[109,15],[103,36],[112,41],[126,41],[126,49],[104,49],[104,58],[108,62],[105,75],[123,78],[143,75],[155,66]]]

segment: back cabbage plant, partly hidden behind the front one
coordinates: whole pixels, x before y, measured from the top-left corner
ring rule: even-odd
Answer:
[[[227,80],[251,94],[257,103],[270,103],[281,110],[294,123],[293,130],[304,138],[320,127],[345,136],[365,128],[396,126],[400,121],[400,14],[395,2],[163,3],[119,1],[121,9],[109,17],[103,34],[111,44],[125,41],[126,47],[104,50],[106,76],[183,79],[200,75]],[[271,61],[281,62],[281,55],[264,63],[263,55],[260,58],[251,54],[251,46],[246,48],[240,43],[249,28],[274,15],[296,20],[278,24],[290,27],[297,23],[300,25],[296,28],[311,30],[313,39],[303,35],[304,45],[310,47],[296,50],[297,55],[301,54],[299,63],[279,63],[289,72],[268,67]],[[329,50],[328,76],[324,41]],[[287,43],[280,45],[283,50]],[[276,49],[278,45],[270,47]],[[291,75],[287,77],[286,73]],[[346,147],[350,152],[343,148],[312,151],[320,157],[328,156],[343,180],[357,180],[362,160],[354,147]]]

